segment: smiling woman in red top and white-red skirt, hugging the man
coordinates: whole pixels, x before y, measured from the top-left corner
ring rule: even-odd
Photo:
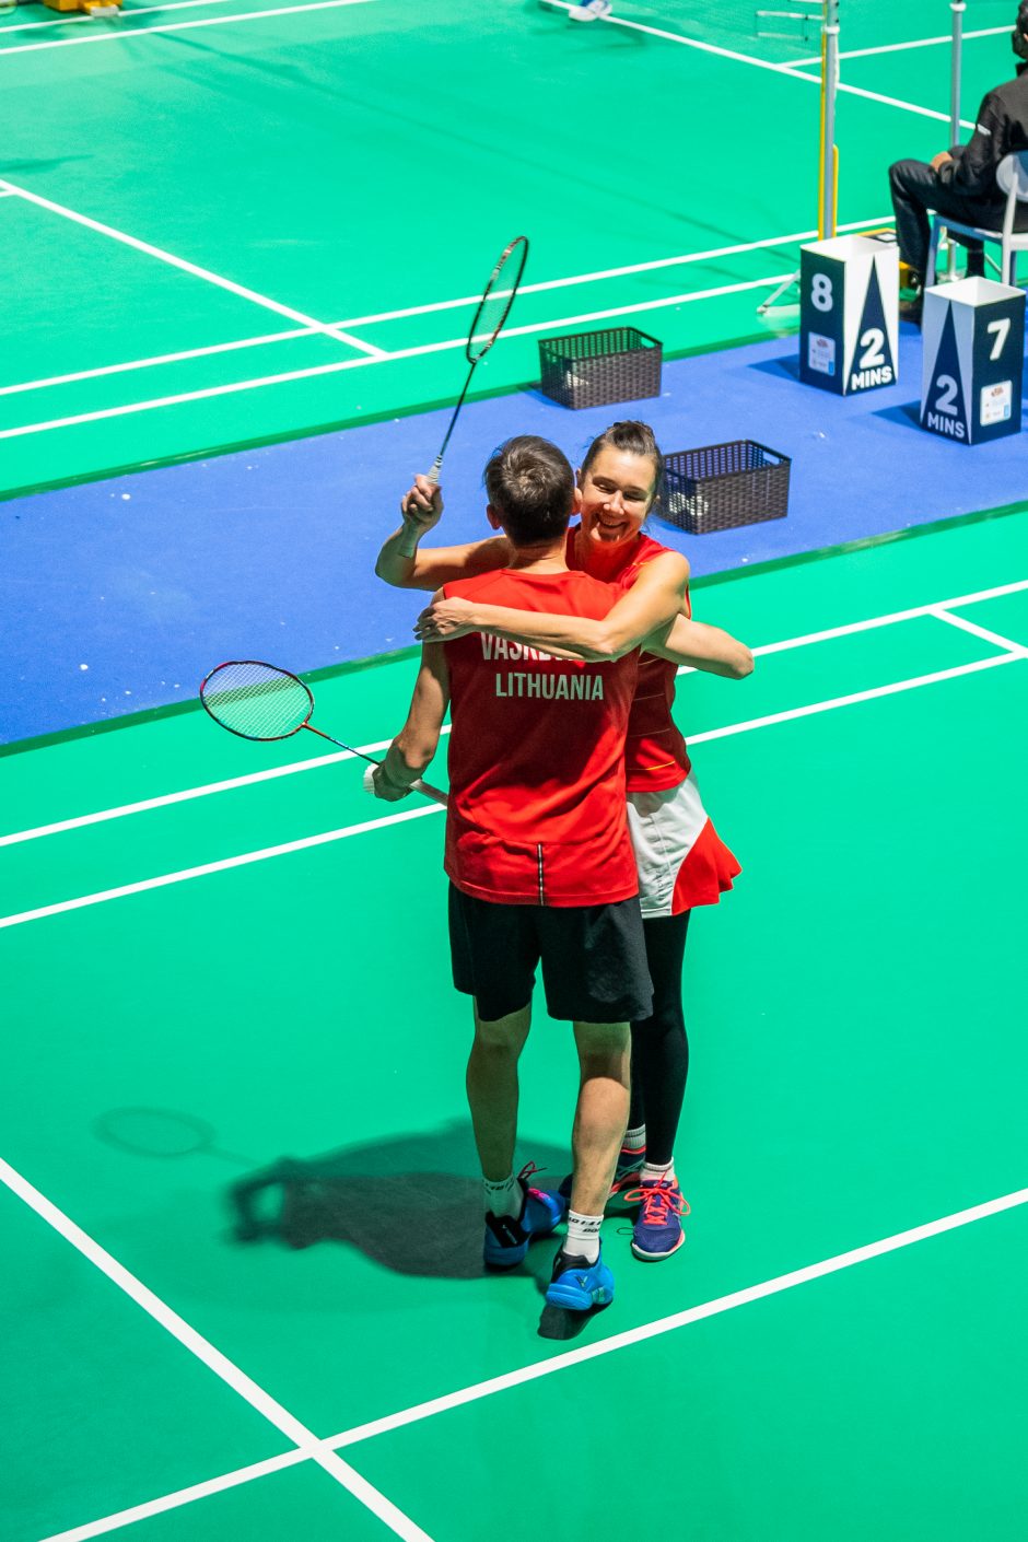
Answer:
[[[684,1201],[674,1141],[689,1069],[681,968],[689,914],[717,904],[740,865],[706,816],[686,743],[670,715],[678,665],[729,678],[752,671],[752,654],[726,632],[692,620],[689,564],[641,526],[658,495],[663,456],[643,423],[615,423],[593,441],[578,473],[581,523],[569,530],[567,564],[624,589],[603,620],[509,611],[436,595],[418,621],[422,638],[490,632],[576,658],[618,658],[647,649],[629,720],[626,769],[629,825],[640,871],[653,1015],[632,1024],[632,1115],[615,1187],[641,1201],[632,1251],[666,1258],[683,1241]],[[438,489],[424,478],[401,504],[424,534],[439,518]],[[402,588],[435,589],[455,577],[502,567],[506,538],[399,557],[401,532],[382,547],[378,572]],[[649,652],[655,649],[657,652]],[[629,1189],[629,1183],[638,1184]]]

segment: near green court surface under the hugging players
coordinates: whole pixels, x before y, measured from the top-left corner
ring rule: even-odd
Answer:
[[[576,1331],[550,1246],[481,1274],[435,808],[199,709],[2,757],[0,1539],[1019,1542],[1026,558],[1028,509],[698,588],[758,660],[678,688],[744,867],[690,930],[689,1240],[612,1214]],[[381,745],[413,671],[314,722]],[[552,1180],[573,1095],[539,1012]]]

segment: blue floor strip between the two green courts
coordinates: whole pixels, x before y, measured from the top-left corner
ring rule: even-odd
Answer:
[[[758,439],[792,458],[789,515],[706,537],[652,534],[694,575],[903,530],[1028,498],[1022,435],[966,447],[917,426],[920,336],[900,384],[848,399],[798,384],[797,338],[664,365],[660,398],[570,412],[538,392],[467,406],[444,467],[438,541],[489,534],[481,467],[512,433],[575,460],[618,416],[666,450]],[[368,424],[39,493],[0,506],[0,743],[196,694],[222,658],[297,672],[407,648],[422,600],[375,578],[396,504],[448,412]],[[703,600],[703,617],[715,615]]]

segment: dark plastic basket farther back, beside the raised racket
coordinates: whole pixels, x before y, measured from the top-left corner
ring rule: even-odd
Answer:
[[[660,396],[661,344],[635,327],[539,339],[544,396],[561,407],[604,407]]]

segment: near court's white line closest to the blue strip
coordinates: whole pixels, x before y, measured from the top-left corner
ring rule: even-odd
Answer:
[[[963,625],[968,631],[974,631],[976,635],[985,637],[986,640],[994,640],[997,646],[1005,648],[1010,652],[1023,652],[1019,643],[1011,643],[1008,638],[1000,638],[993,632],[985,632],[983,628],[976,626],[973,621],[963,621],[962,618],[949,615],[949,608],[979,604],[983,600],[1002,600],[1011,594],[1020,594],[1028,589],[1028,578],[1020,578],[1017,583],[999,584],[993,589],[979,589],[974,594],[962,594],[954,600],[932,600],[929,604],[915,604],[908,611],[889,611],[885,615],[874,615],[865,621],[846,621],[842,626],[829,626],[820,632],[805,632],[800,637],[789,637],[778,643],[763,643],[754,648],[755,658],[764,658],[771,654],[788,652],[794,648],[809,648],[814,643],[828,643],[837,637],[852,637],[857,632],[874,631],[882,626],[897,626],[902,621],[914,621],[919,617],[936,615],[939,620],[948,620],[954,625]],[[698,674],[694,666],[683,665],[678,671],[680,675]],[[442,732],[448,734],[448,725],[444,725]],[[695,736],[690,736],[695,742]],[[388,746],[388,739],[379,739],[370,745],[359,745],[358,752],[361,756],[373,756],[381,749]],[[82,830],[85,825],[99,825],[108,819],[123,819],[126,814],[143,814],[154,808],[168,808],[171,803],[185,803],[194,797],[210,797],[214,793],[231,793],[242,786],[254,786],[260,782],[271,782],[284,776],[296,776],[304,771],[316,771],[319,766],[338,765],[341,760],[353,760],[354,752],[350,749],[334,751],[325,756],[316,756],[311,760],[293,760],[285,766],[273,766],[268,771],[250,771],[245,776],[228,777],[223,782],[207,782],[202,786],[185,788],[179,793],[162,793],[157,797],[140,799],[134,803],[120,803],[116,808],[105,808],[94,814],[77,814],[72,819],[60,819],[49,825],[35,825],[31,830],[12,831],[8,836],[0,836],[0,847],[20,845],[23,840],[39,840],[42,836],[57,836],[65,834],[68,830]]]

